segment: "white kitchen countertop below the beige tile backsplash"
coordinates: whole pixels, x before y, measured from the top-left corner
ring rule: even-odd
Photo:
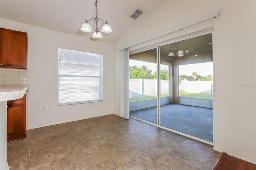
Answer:
[[[0,102],[20,99],[26,93],[27,85],[1,85]]]

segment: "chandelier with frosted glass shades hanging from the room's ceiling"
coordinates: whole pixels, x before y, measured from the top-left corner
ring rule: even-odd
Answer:
[[[84,24],[82,25],[82,27],[80,28],[81,31],[83,32],[92,32],[92,28],[90,26],[90,24],[93,26],[93,24],[90,22],[91,20],[95,20],[96,21],[96,26],[94,28],[94,33],[92,35],[93,38],[102,38],[102,35],[100,33],[100,28],[102,27],[101,31],[105,32],[105,33],[109,33],[112,32],[110,25],[108,25],[108,21],[103,21],[102,19],[98,18],[98,0],[95,1],[95,6],[96,6],[96,17],[95,18],[91,18],[90,20],[86,20],[84,19]],[[98,27],[98,21],[102,21],[103,24],[101,24],[100,27]]]

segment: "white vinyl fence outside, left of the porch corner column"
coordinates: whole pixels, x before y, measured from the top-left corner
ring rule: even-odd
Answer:
[[[130,79],[129,81],[130,98],[156,96],[157,83],[156,79]],[[161,95],[169,94],[168,80],[161,80]]]

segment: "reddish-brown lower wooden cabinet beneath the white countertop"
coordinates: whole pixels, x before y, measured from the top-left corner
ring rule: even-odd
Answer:
[[[7,101],[7,142],[27,137],[26,100],[23,98]]]

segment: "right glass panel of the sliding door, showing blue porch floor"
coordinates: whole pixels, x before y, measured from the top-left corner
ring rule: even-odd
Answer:
[[[213,142],[212,34],[162,45],[159,53],[159,125]]]

